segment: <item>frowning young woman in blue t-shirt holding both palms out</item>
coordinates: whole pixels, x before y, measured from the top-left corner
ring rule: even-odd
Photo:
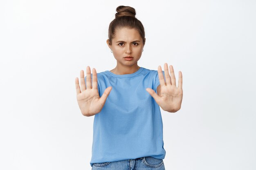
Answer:
[[[94,115],[92,169],[164,170],[163,124],[159,106],[177,112],[182,103],[182,73],[176,87],[173,67],[164,71],[138,66],[146,42],[144,27],[132,7],[117,7],[110,22],[107,44],[117,66],[97,73],[81,70],[76,77],[81,113]],[[86,82],[86,84],[85,84]]]

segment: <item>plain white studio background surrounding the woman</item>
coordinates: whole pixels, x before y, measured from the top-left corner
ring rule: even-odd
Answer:
[[[182,108],[161,109],[166,170],[256,169],[256,1],[0,1],[0,169],[91,170],[93,119],[75,77],[116,60],[119,5],[146,32],[139,66],[173,65]]]

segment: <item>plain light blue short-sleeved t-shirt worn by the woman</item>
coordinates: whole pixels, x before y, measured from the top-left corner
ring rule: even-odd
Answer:
[[[94,115],[90,165],[147,156],[164,159],[160,108],[146,91],[152,88],[157,93],[157,71],[143,67],[124,75],[104,71],[97,73],[97,79],[100,97],[109,86],[112,90]]]

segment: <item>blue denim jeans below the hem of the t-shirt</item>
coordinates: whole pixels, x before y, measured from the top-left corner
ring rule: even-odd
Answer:
[[[165,170],[163,159],[142,157],[115,162],[93,163],[92,170]]]

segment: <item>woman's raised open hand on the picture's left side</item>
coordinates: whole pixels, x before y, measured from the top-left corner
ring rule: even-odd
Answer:
[[[76,99],[84,116],[93,116],[101,111],[106,99],[112,90],[112,87],[105,89],[103,95],[99,96],[97,73],[95,68],[92,69],[92,84],[91,84],[91,69],[86,68],[86,86],[83,70],[80,71],[81,90],[79,86],[79,79],[76,77]],[[86,88],[86,89],[85,89]]]

